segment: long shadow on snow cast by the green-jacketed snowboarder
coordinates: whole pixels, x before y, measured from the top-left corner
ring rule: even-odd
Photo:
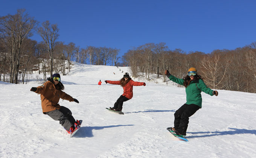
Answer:
[[[248,130],[248,129],[237,129],[237,128],[229,128],[233,131],[214,131],[214,132],[187,132],[190,134],[205,134],[205,135],[192,135],[186,138],[202,138],[202,137],[212,137],[216,135],[234,135],[234,134],[255,134],[256,130]]]

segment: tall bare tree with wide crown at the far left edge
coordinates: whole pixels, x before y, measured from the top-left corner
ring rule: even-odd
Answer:
[[[38,22],[30,17],[25,9],[18,9],[15,15],[0,17],[0,27],[4,38],[8,39],[11,50],[10,82],[18,84],[18,70],[20,67],[20,53],[23,41],[32,36],[32,29]]]

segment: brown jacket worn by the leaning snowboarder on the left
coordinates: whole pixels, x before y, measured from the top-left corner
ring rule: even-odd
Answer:
[[[60,98],[69,100],[70,102],[74,101],[69,94],[66,94],[61,90],[56,90],[55,85],[50,81],[38,86],[35,93],[41,94],[40,97],[44,114],[45,112],[60,109],[61,106],[58,104]]]

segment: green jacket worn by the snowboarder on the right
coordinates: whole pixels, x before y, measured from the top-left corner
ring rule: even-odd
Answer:
[[[177,84],[184,85],[183,79],[178,79],[175,76],[169,76],[169,79]],[[186,104],[195,104],[202,108],[202,96],[201,91],[210,96],[213,96],[213,90],[208,88],[202,79],[199,79],[197,82],[191,81],[189,86],[186,88]]]

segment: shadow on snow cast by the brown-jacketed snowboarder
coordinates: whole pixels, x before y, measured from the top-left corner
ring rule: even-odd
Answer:
[[[113,127],[120,127],[120,126],[134,126],[134,125],[112,125],[112,126],[86,126],[86,127],[81,127],[79,131],[74,135],[74,137],[78,138],[85,138],[85,137],[93,137],[93,129],[95,130],[100,130],[104,128],[113,128]]]

